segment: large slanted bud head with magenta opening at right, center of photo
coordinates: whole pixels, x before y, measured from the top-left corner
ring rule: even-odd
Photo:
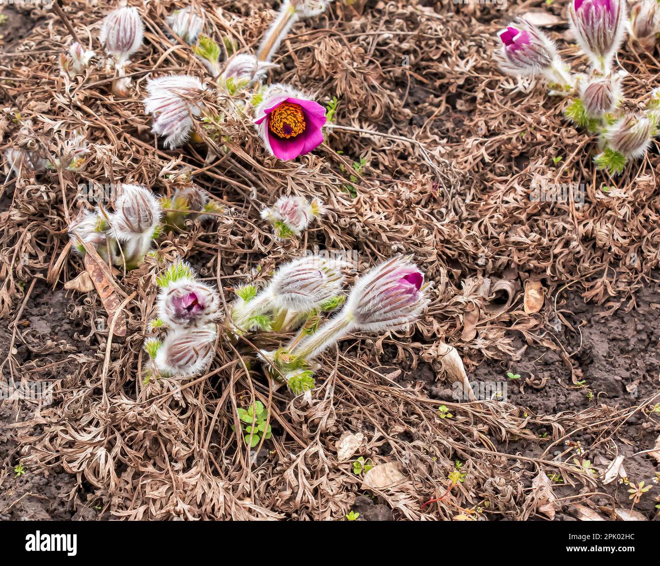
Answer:
[[[423,284],[424,274],[409,259],[389,259],[358,279],[343,312],[361,330],[407,325],[428,304]]]

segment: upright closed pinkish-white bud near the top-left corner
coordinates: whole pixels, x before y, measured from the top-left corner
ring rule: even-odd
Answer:
[[[127,59],[141,46],[144,33],[145,26],[137,8],[122,7],[104,18],[100,40],[117,67],[123,67]]]

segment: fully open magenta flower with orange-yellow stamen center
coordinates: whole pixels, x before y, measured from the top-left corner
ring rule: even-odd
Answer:
[[[256,115],[259,135],[266,149],[278,159],[295,159],[323,142],[325,108],[290,86],[271,84]]]

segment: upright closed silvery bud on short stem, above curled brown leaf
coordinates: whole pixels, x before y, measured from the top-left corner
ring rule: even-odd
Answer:
[[[110,224],[113,236],[121,244],[127,267],[135,267],[149,251],[160,226],[160,214],[160,203],[147,187],[121,185]]]

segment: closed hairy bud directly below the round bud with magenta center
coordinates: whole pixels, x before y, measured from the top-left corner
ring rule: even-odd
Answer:
[[[158,348],[156,367],[172,377],[197,375],[213,358],[216,336],[214,325],[171,330]]]

